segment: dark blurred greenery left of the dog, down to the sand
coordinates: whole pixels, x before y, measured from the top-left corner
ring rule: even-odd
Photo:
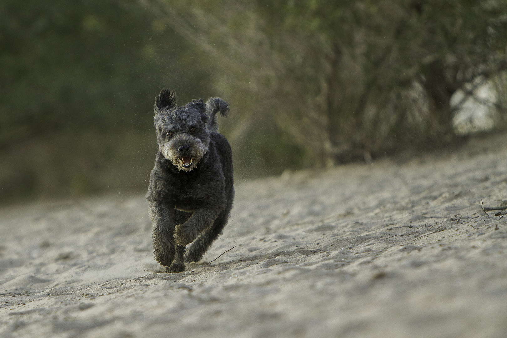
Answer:
[[[153,99],[212,95],[205,57],[135,1],[1,2],[0,200],[144,189]]]

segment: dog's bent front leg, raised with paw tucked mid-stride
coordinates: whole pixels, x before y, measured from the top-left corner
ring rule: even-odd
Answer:
[[[192,243],[205,229],[211,227],[221,209],[199,209],[183,224],[176,226],[174,239],[178,245]]]

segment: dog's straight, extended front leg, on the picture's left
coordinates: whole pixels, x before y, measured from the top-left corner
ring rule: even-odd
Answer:
[[[150,218],[153,223],[153,253],[164,267],[170,267],[174,260],[174,206],[162,202],[150,203]]]

